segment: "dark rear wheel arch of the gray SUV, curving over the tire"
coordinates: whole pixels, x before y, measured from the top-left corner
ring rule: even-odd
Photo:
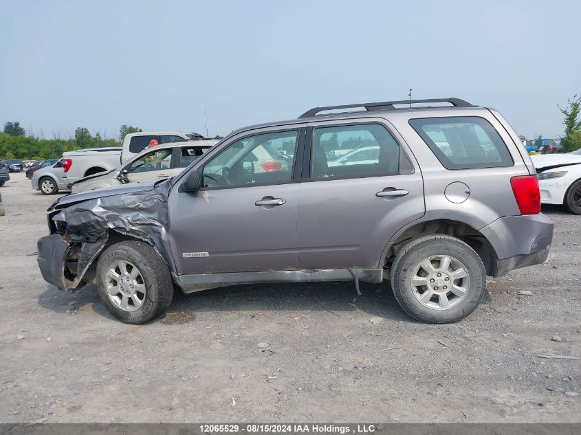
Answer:
[[[399,249],[402,249],[404,245],[415,238],[428,234],[445,234],[459,238],[459,240],[468,244],[478,254],[482,260],[486,274],[489,276],[494,274],[497,258],[496,251],[486,236],[468,223],[445,218],[429,219],[421,222],[415,221],[402,227],[384,248],[379,262],[380,267],[383,265],[384,269],[391,269],[391,263],[393,263],[393,259],[397,255],[397,252],[399,252]]]

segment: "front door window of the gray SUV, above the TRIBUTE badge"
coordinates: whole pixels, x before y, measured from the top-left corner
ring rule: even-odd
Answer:
[[[245,137],[204,166],[204,187],[250,186],[292,180],[298,132]]]

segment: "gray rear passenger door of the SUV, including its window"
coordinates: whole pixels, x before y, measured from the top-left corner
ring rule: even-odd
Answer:
[[[380,118],[309,123],[308,137],[297,212],[301,269],[381,267],[391,236],[424,215],[417,164]]]

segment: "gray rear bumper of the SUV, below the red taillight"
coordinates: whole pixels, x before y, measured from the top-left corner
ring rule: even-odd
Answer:
[[[481,232],[496,254],[492,276],[544,263],[553,241],[553,221],[542,213],[496,219]]]

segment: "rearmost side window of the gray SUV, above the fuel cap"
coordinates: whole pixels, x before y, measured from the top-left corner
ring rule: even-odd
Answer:
[[[446,169],[512,166],[508,149],[494,127],[476,116],[418,118],[410,125]]]

